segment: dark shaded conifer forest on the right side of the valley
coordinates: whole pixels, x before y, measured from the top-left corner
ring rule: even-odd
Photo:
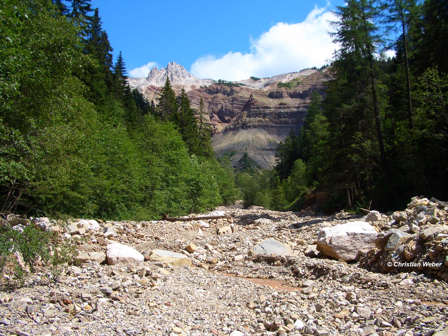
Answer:
[[[446,199],[448,2],[349,0],[335,14],[335,79],[273,171],[239,174],[245,204],[386,211],[416,194]]]

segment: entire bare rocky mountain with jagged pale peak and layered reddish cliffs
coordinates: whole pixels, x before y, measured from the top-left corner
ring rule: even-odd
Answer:
[[[259,167],[272,168],[279,142],[291,129],[297,133],[302,127],[311,94],[317,90],[323,95],[325,82],[332,78],[328,70],[304,69],[230,83],[195,78],[172,62],[166,68],[151,69],[147,78],[128,81],[147,99],[156,99],[168,76],[177,93],[185,88],[197,111],[203,99],[204,117],[213,127],[212,146],[218,157],[228,155],[237,166],[247,153]]]

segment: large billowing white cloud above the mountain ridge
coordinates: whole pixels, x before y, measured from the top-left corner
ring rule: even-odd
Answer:
[[[316,6],[303,22],[280,22],[258,39],[250,39],[250,53],[200,57],[191,66],[191,73],[198,78],[237,81],[319,67],[337,48],[327,33],[332,31],[329,21],[335,20],[331,12]]]

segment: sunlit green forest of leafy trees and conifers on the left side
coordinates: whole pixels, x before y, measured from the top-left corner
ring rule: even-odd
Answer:
[[[69,5],[66,5],[69,4]],[[167,80],[158,107],[88,0],[0,0],[0,212],[151,219],[236,197]]]

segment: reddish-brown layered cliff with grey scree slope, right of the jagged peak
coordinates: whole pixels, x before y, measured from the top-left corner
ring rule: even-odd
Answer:
[[[326,73],[316,72],[312,73],[313,80],[310,79],[309,83],[300,82],[293,89],[276,87],[253,91],[241,112],[236,116],[232,114],[232,121],[227,125],[223,123],[224,129],[213,136],[216,156],[228,155],[233,166],[238,168],[238,163],[247,153],[259,167],[272,168],[280,141],[291,130],[297,134],[302,128],[312,92],[324,90],[329,77]]]

